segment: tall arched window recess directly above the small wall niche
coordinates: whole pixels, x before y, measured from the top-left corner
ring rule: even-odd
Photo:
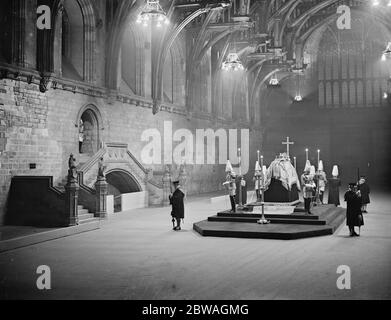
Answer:
[[[38,34],[38,66],[64,78],[93,82],[96,17],[92,0],[58,1],[54,9],[53,33]]]

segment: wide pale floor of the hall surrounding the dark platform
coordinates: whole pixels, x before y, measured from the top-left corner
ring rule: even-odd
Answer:
[[[371,195],[357,238],[345,225],[291,241],[202,237],[193,222],[229,203],[201,196],[180,232],[169,208],[115,214],[99,230],[1,253],[0,299],[390,299],[390,195]],[[40,265],[51,290],[37,289]],[[340,265],[350,290],[337,288]]]

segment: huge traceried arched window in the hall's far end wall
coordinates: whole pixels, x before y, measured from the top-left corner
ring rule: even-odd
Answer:
[[[354,11],[353,14],[354,29],[341,31],[330,24],[318,38],[317,59],[321,62],[318,63],[318,89],[325,90],[325,104],[334,107],[385,105],[382,83],[388,70],[380,62],[379,52],[384,50],[391,34],[366,13]],[[313,38],[312,42],[318,39]],[[322,95],[319,92],[319,106],[323,105]]]

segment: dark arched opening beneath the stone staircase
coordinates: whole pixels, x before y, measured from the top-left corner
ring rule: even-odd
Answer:
[[[136,179],[127,171],[115,169],[106,174],[107,193],[114,197],[114,212],[122,211],[122,195],[142,191]]]

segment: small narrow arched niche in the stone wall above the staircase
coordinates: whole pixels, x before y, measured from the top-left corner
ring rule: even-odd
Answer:
[[[79,153],[95,154],[100,145],[99,121],[91,108],[86,108],[79,117]]]

